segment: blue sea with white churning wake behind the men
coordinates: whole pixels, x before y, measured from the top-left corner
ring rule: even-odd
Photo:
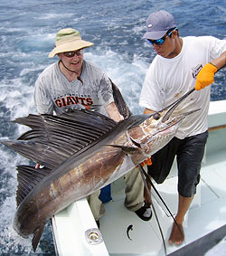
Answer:
[[[38,75],[57,57],[48,58],[54,35],[61,28],[80,31],[94,43],[84,58],[96,63],[114,81],[134,114],[146,70],[155,57],[142,40],[147,16],[165,9],[174,14],[182,37],[213,35],[226,38],[226,6],[221,0],[0,0],[0,137],[17,138],[26,128],[11,120],[36,113],[33,86]],[[216,74],[212,100],[226,99],[225,70]],[[0,253],[35,254],[32,238],[14,232],[15,166],[29,164],[0,146]],[[51,225],[46,225],[36,253],[54,255]]]

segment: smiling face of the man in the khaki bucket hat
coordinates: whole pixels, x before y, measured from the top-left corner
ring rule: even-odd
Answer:
[[[58,57],[64,63],[64,65],[71,71],[79,73],[81,71],[83,62],[83,50],[75,52],[61,52],[58,53]]]

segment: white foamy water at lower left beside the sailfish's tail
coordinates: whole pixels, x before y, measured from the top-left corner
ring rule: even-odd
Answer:
[[[23,251],[25,251],[26,246],[28,248],[31,247],[31,245],[27,243],[28,241],[24,240],[23,242],[23,239],[21,239],[13,229],[14,212],[16,209],[15,191],[17,186],[14,169],[15,165],[21,165],[22,162],[28,164],[28,161],[3,147],[0,147],[0,154],[0,251],[2,253],[8,251],[16,253],[20,252],[20,248],[22,247]],[[12,159],[14,160],[12,161]],[[2,168],[2,166],[4,166],[4,168]]]

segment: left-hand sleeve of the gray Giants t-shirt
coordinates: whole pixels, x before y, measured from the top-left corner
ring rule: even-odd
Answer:
[[[41,76],[35,82],[33,99],[39,114],[53,114],[52,98]]]

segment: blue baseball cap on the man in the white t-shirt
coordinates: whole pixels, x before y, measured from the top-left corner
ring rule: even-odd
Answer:
[[[148,16],[146,20],[146,33],[142,38],[156,40],[162,38],[165,33],[176,27],[172,14],[164,10],[157,11]]]

